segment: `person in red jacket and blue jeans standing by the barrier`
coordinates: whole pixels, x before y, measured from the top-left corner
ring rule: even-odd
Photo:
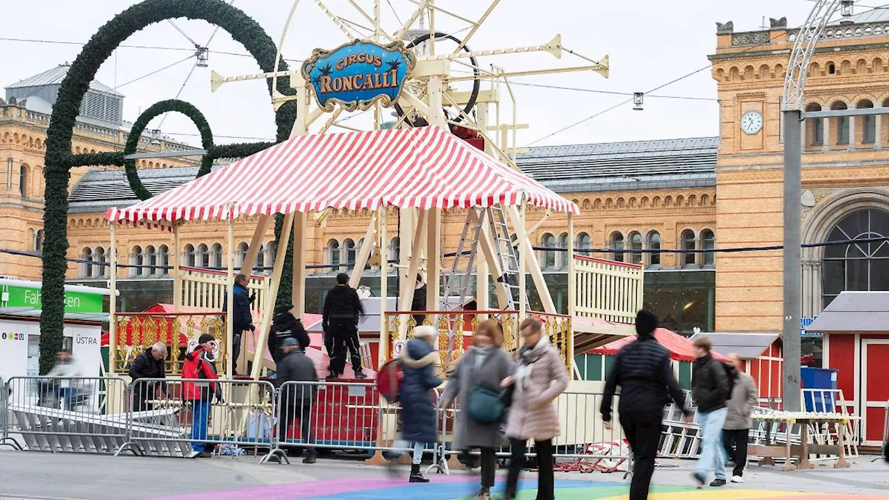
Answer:
[[[190,457],[211,456],[206,450],[207,420],[210,416],[211,398],[216,402],[222,402],[220,384],[214,382],[202,382],[204,380],[216,380],[216,365],[213,363],[212,351],[216,343],[216,337],[204,334],[198,337],[194,351],[185,355],[182,363],[182,399],[191,403],[191,449]]]

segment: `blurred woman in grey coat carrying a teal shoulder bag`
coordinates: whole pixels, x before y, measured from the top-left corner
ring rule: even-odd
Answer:
[[[501,447],[500,419],[481,422],[469,415],[472,394],[488,391],[499,393],[515,369],[513,360],[503,350],[503,334],[493,319],[483,321],[472,335],[472,347],[457,362],[457,367],[448,376],[441,406],[450,407],[457,399],[462,408],[457,413],[454,429],[453,448],[462,452],[480,449],[482,456],[481,490],[478,500],[490,500],[494,486],[496,456],[494,449]]]

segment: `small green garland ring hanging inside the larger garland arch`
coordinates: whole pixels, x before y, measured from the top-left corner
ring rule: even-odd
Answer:
[[[204,117],[204,113],[201,113],[200,110],[188,102],[180,101],[178,99],[156,102],[139,116],[136,123],[132,124],[130,136],[126,140],[124,157],[132,155],[139,148],[140,137],[145,131],[145,127],[148,126],[148,122],[150,122],[152,118],[163,115],[168,111],[181,113],[186,117],[191,118],[191,121],[194,122],[197,127],[197,132],[201,134],[201,145],[203,145],[204,150],[207,151],[204,156],[201,157],[201,168],[197,170],[196,176],[201,177],[202,175],[210,173],[213,168],[213,158],[211,156],[213,133],[210,130],[210,124],[207,123],[207,118]],[[151,193],[145,189],[145,186],[142,185],[142,180],[139,178],[139,170],[136,169],[136,160],[125,160],[124,166],[126,167],[126,179],[127,181],[130,181],[132,192],[142,200],[151,198]]]

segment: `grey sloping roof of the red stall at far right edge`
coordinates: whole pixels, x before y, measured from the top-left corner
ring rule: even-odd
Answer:
[[[889,292],[843,292],[821,311],[806,332],[889,332]]]

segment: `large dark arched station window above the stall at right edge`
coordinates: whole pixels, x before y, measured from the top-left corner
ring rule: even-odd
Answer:
[[[886,237],[889,212],[870,208],[847,215],[830,231],[828,241]],[[844,291],[889,291],[889,242],[825,246],[821,289],[824,307]]]

